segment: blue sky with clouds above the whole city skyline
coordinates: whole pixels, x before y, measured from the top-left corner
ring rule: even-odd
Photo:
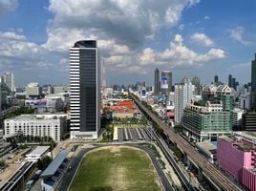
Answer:
[[[69,49],[97,40],[106,81],[152,85],[232,74],[250,81],[256,53],[255,0],[0,0],[0,74],[17,86],[69,85]]]

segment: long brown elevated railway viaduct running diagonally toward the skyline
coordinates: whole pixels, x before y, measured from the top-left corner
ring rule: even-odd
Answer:
[[[166,124],[164,124],[159,117],[156,117],[149,109],[142,105],[139,99],[131,95],[140,110],[143,110],[149,117],[155,121],[160,129],[163,130],[164,134],[172,141],[175,142],[181,150],[186,153],[189,159],[203,170],[203,173],[210,179],[213,180],[222,190],[243,190],[232,180],[229,180],[227,177],[222,174],[214,165],[209,163],[207,159],[203,158],[198,152],[195,151],[194,147],[191,146],[188,142],[184,141],[179,137],[175,132],[170,130]]]

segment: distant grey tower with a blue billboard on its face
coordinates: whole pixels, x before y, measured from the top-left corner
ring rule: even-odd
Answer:
[[[169,96],[169,93],[172,91],[172,72],[171,71],[162,71],[160,78],[160,90],[161,94]]]

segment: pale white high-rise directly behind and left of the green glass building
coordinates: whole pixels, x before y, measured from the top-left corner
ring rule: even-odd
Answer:
[[[186,105],[194,99],[194,85],[189,80],[185,80],[181,84],[175,85],[174,91],[174,107],[175,107],[175,123],[181,122],[183,110]]]

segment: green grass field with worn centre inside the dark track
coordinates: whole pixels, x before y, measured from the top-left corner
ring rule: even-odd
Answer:
[[[158,191],[160,181],[146,153],[124,146],[96,149],[83,159],[70,191]]]

